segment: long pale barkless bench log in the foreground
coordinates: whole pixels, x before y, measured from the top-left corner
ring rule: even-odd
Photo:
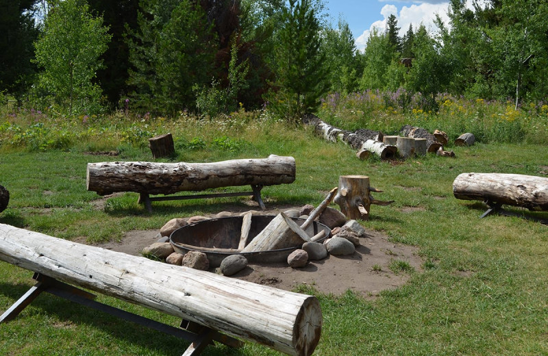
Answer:
[[[288,355],[312,354],[322,316],[314,296],[77,244],[0,224],[0,260],[197,322]]]

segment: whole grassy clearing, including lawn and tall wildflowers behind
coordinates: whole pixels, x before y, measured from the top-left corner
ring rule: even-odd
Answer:
[[[545,355],[548,354],[548,226],[527,218],[546,212],[509,207],[519,216],[492,215],[480,202],[458,201],[460,173],[516,173],[547,177],[548,106],[513,110],[511,103],[440,95],[438,107],[396,93],[326,97],[318,115],[343,129],[403,125],[441,129],[450,142],[461,133],[473,147],[452,147],[455,158],[360,161],[343,143],[329,143],[307,127],[292,127],[268,112],[215,118],[180,112],[162,118],[122,110],[108,116],[66,118],[47,110],[4,109],[0,114],[0,184],[10,190],[0,223],[88,242],[117,240],[133,229],[159,229],[171,218],[244,206],[238,198],[158,202],[152,214],[137,194],[101,199],[86,191],[86,163],[152,161],[147,139],[171,132],[176,154],[162,162],[216,162],[270,154],[291,155],[297,179],[262,190],[267,205],[317,205],[339,175],[368,175],[388,207],[373,207],[366,229],[419,248],[421,270],[402,270],[406,285],[365,298],[320,294],[323,333],[314,355]],[[367,99],[369,97],[369,99]],[[392,101],[390,101],[392,100]],[[116,152],[116,156],[106,155]],[[245,188],[245,187],[242,187]],[[226,188],[235,191],[239,188]],[[247,189],[247,188],[245,188]],[[335,206],[336,207],[336,206]],[[371,273],[375,273],[372,270]],[[0,262],[0,311],[32,283],[32,272]],[[107,296],[99,301],[178,325],[179,320]],[[42,295],[16,320],[0,327],[1,355],[181,355],[188,342]],[[203,355],[280,355],[246,343],[208,346]]]

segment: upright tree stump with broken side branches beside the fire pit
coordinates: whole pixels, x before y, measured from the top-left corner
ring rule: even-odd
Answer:
[[[369,185],[369,177],[365,175],[341,175],[338,178],[338,193],[334,202],[339,205],[340,212],[349,219],[368,220],[371,204],[388,205],[393,201],[378,201],[373,199],[371,192],[382,192]]]

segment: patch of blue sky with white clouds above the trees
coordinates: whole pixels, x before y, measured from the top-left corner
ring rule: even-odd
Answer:
[[[436,13],[440,14],[445,23],[448,21],[447,0],[325,0],[325,4],[334,27],[339,16],[347,21],[356,40],[356,47],[360,50],[364,49],[373,27],[384,31],[386,18],[390,14],[397,18],[400,36],[407,32],[410,24],[414,30],[423,23],[427,29],[434,31]]]

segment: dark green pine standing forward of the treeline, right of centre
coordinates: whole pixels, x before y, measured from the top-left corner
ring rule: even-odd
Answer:
[[[312,0],[289,0],[282,10],[279,24],[277,58],[277,92],[271,97],[271,108],[286,120],[297,123],[306,112],[315,110],[320,97],[327,92],[319,31],[320,3]]]

